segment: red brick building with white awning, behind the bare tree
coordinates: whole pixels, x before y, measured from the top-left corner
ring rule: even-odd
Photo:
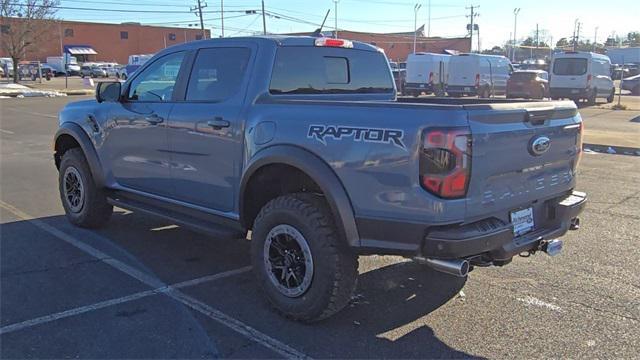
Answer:
[[[17,18],[2,18],[6,29]],[[138,23],[102,24],[80,21],[43,21],[49,36],[38,39],[24,60],[45,61],[47,56],[60,56],[63,49],[73,49],[78,61],[116,61],[126,64],[129,55],[152,54],[165,47],[187,41],[200,40],[200,29],[149,26]],[[6,30],[4,30],[6,31]],[[205,36],[211,36],[205,30]],[[0,57],[8,55],[0,47]]]

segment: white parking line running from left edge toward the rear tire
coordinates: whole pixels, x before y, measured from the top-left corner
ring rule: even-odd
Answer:
[[[22,329],[25,329],[25,328],[28,328],[28,327],[32,327],[32,326],[36,326],[36,325],[41,325],[41,324],[48,323],[48,322],[51,322],[51,321],[55,321],[55,320],[59,320],[59,319],[68,318],[68,317],[71,317],[71,316],[84,314],[86,312],[90,312],[90,311],[106,308],[106,307],[109,307],[109,306],[118,305],[118,304],[130,302],[130,301],[142,299],[142,298],[145,298],[145,297],[148,297],[148,296],[157,295],[157,294],[163,294],[163,293],[175,290],[175,289],[181,289],[181,288],[185,288],[185,287],[188,287],[188,286],[194,286],[194,285],[202,284],[202,283],[209,282],[209,281],[223,279],[223,278],[226,278],[226,277],[229,277],[229,276],[242,274],[242,273],[245,273],[245,272],[250,271],[250,270],[251,270],[250,266],[245,266],[245,267],[242,267],[242,268],[239,268],[239,269],[235,269],[235,270],[225,271],[225,272],[221,272],[221,273],[217,273],[217,274],[213,274],[213,275],[202,276],[202,277],[199,277],[199,278],[196,278],[196,279],[183,281],[183,282],[180,282],[180,283],[177,283],[177,284],[173,284],[173,285],[169,285],[169,286],[163,286],[163,287],[152,289],[152,290],[141,291],[141,292],[137,292],[135,294],[131,294],[131,295],[115,298],[115,299],[101,301],[101,302],[98,302],[98,303],[95,303],[95,304],[91,304],[91,305],[80,306],[80,307],[77,307],[77,308],[74,308],[74,309],[65,310],[65,311],[54,313],[54,314],[41,316],[41,317],[38,317],[38,318],[35,318],[35,319],[26,320],[26,321],[15,323],[15,324],[11,324],[11,325],[6,325],[6,326],[3,326],[3,327],[0,328],[0,335],[6,334],[6,333],[10,333],[10,332],[14,332],[14,331],[18,331],[18,330],[22,330]]]

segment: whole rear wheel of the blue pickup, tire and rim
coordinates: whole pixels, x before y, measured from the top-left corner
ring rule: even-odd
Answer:
[[[271,305],[304,322],[344,308],[356,286],[358,260],[324,199],[299,193],[268,202],[251,238],[253,270]]]

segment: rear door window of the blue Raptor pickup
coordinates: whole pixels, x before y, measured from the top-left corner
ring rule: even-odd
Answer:
[[[187,101],[220,102],[240,89],[247,71],[251,50],[248,48],[210,48],[198,51],[193,63]]]

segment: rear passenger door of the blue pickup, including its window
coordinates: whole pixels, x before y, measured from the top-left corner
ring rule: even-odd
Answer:
[[[252,49],[200,49],[184,101],[169,117],[175,198],[222,212],[234,208],[242,165],[241,115]]]

